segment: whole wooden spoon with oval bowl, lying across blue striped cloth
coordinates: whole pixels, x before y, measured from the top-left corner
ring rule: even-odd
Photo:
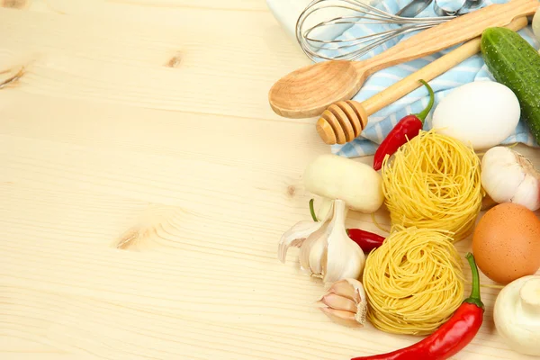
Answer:
[[[302,67],[272,86],[268,94],[270,106],[275,113],[287,118],[320,115],[331,103],[351,99],[365,79],[376,71],[471,40],[486,28],[506,26],[517,17],[535,14],[539,6],[537,0],[491,4],[420,31],[374,58],[364,61],[331,60]]]

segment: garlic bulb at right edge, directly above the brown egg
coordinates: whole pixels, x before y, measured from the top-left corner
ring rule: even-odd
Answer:
[[[517,151],[490,148],[482,157],[482,187],[495,202],[515,202],[531,211],[540,208],[540,175]]]

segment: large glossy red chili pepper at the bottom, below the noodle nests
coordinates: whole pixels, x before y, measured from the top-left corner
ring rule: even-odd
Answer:
[[[466,347],[482,326],[484,313],[478,268],[471,253],[466,257],[473,272],[471,296],[464,300],[445,324],[410,347],[376,356],[354,357],[352,360],[446,360]]]

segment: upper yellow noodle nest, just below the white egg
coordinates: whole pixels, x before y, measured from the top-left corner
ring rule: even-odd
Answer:
[[[420,130],[383,161],[383,193],[392,227],[451,231],[468,237],[482,209],[481,161],[473,148]]]

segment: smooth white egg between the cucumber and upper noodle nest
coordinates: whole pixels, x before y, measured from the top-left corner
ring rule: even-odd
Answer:
[[[440,101],[432,127],[475,150],[485,149],[507,139],[520,115],[518,97],[508,86],[477,81],[456,87]]]

